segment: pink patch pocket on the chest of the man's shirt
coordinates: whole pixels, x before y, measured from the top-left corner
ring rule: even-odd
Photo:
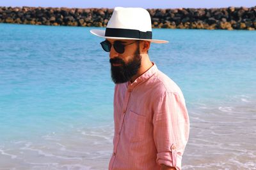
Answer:
[[[147,118],[145,116],[129,111],[129,114],[125,115],[125,138],[130,142],[142,141],[145,137],[146,125]]]

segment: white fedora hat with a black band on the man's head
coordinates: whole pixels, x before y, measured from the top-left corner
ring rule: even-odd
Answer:
[[[143,8],[116,7],[108,22],[106,30],[90,30],[95,36],[108,39],[136,39],[152,43],[168,43],[152,39],[151,18]]]

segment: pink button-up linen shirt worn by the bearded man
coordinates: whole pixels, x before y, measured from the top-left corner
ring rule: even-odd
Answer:
[[[188,111],[180,88],[156,64],[133,83],[115,85],[114,121],[109,170],[181,169]]]

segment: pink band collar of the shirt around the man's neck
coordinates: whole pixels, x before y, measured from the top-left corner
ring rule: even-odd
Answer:
[[[136,87],[136,85],[142,83],[143,81],[148,80],[148,78],[150,78],[151,76],[153,76],[156,72],[157,72],[157,66],[154,62],[152,62],[153,66],[150,67],[145,73],[141,74],[138,78],[136,78],[135,81],[133,81],[131,83],[131,81],[128,81],[127,85],[128,85],[128,90],[132,91],[132,89],[134,89],[134,87]]]

